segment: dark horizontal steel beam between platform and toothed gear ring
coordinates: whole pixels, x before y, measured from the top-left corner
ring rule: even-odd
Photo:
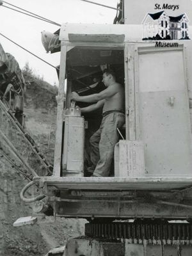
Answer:
[[[101,196],[100,196],[101,197]],[[132,202],[123,203],[112,201],[104,202],[103,200],[86,200],[83,202],[81,198],[77,202],[67,199],[56,202],[54,198],[49,202],[54,205],[58,216],[70,217],[106,217],[106,218],[152,218],[152,219],[168,219],[168,220],[186,220],[192,218],[191,209],[186,207],[175,207],[172,205],[157,204],[157,202],[140,202],[132,200]]]

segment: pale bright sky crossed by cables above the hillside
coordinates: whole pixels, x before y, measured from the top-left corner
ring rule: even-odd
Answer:
[[[115,8],[118,3],[118,0],[92,1]],[[6,0],[6,3],[0,6],[0,33],[51,63],[54,67],[60,65],[60,52],[50,54],[45,51],[41,42],[41,31],[53,33],[60,27],[10,10],[4,6],[14,7],[7,3],[19,6],[59,24],[65,22],[113,24],[113,19],[116,15],[116,10],[81,0]],[[38,60],[38,58],[20,49],[1,35],[0,44],[5,52],[10,52],[15,57],[20,68],[23,68],[28,62],[29,67],[33,69],[37,76],[43,77],[44,81],[52,85],[55,83],[58,85],[58,76],[55,68]]]

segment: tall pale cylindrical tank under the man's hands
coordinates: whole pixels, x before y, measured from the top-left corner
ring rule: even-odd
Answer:
[[[84,172],[84,117],[74,104],[65,111],[62,175],[83,177]]]

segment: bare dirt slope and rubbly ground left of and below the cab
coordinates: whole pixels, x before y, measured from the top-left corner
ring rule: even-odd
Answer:
[[[35,83],[28,84],[24,108],[26,129],[51,164],[56,122],[55,95],[55,92]],[[54,220],[52,216],[44,215],[38,216],[33,226],[13,227],[13,222],[18,218],[34,216],[32,205],[22,202],[19,196],[27,181],[1,160],[0,170],[0,256],[42,256],[54,247],[65,245],[70,237],[84,234],[86,220]],[[30,196],[30,193],[26,194]]]

